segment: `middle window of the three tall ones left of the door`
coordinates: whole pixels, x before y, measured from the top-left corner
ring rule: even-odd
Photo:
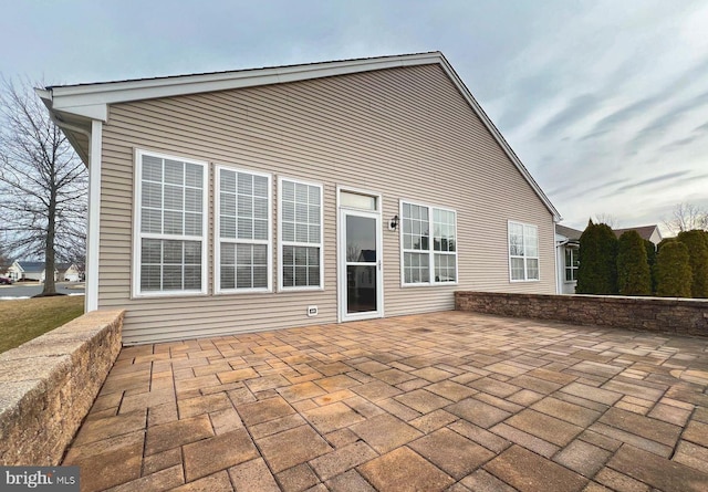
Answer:
[[[269,292],[270,175],[221,166],[216,172],[216,292]]]

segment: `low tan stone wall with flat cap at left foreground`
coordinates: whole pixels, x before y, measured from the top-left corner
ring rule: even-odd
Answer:
[[[0,465],[55,465],[121,352],[123,311],[94,311],[0,354]]]

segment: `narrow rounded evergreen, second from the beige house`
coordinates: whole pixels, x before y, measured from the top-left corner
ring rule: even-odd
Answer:
[[[626,231],[617,242],[617,290],[622,295],[649,295],[652,274],[644,240],[637,231]]]

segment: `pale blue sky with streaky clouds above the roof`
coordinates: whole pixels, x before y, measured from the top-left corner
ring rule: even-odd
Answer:
[[[0,73],[112,81],[440,50],[564,218],[708,208],[708,2],[0,0]]]

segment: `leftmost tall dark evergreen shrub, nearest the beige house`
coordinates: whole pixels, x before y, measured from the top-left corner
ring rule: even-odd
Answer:
[[[610,226],[591,220],[580,237],[579,294],[617,293],[617,238]]]

